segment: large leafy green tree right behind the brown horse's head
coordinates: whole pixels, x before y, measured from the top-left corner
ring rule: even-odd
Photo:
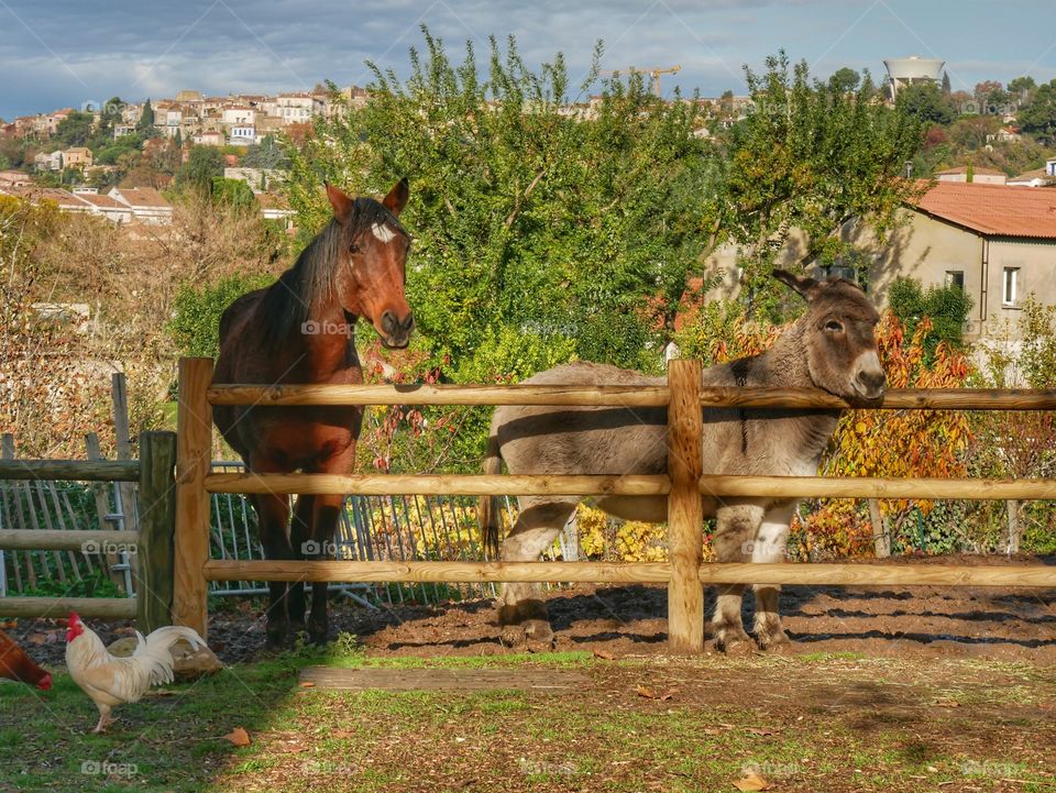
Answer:
[[[453,64],[424,33],[406,81],[374,68],[363,110],[287,146],[298,225],[329,217],[322,178],[377,194],[408,175],[408,293],[441,376],[519,377],[573,354],[659,368],[657,326],[714,225],[696,103],[664,104],[632,75],[588,110],[569,102],[560,55],[536,73],[493,38],[482,81],[472,45]]]

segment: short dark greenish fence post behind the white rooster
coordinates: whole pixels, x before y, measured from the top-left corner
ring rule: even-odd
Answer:
[[[176,433],[140,436],[135,621],[144,634],[172,623],[176,533]]]

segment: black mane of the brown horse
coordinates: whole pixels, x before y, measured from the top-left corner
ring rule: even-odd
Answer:
[[[300,252],[294,266],[268,287],[258,304],[266,346],[274,349],[282,344],[292,333],[299,332],[312,311],[336,299],[333,275],[342,261],[342,244],[375,223],[407,234],[384,205],[373,198],[358,198],[352,206],[349,229],[331,219]]]

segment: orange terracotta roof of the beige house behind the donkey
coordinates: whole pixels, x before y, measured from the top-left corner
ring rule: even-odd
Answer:
[[[916,208],[980,234],[1056,240],[1056,190],[939,181]]]

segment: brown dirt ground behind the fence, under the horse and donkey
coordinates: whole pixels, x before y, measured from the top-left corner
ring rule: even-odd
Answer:
[[[1056,564],[1056,559],[958,557],[906,564]],[[714,590],[707,591],[714,606]],[[751,597],[745,624],[751,625]],[[663,654],[667,591],[662,586],[575,585],[548,597],[557,650],[614,656]],[[227,663],[263,649],[260,603],[211,615],[209,643]],[[1056,665],[1056,590],[994,587],[789,586],[781,594],[791,652],[854,652],[876,658],[976,658]],[[62,663],[64,620],[20,620],[8,628],[45,663]],[[94,625],[105,640],[131,632],[125,623]],[[331,601],[331,636],[358,637],[371,656],[484,656],[520,652],[499,640],[491,599],[440,606],[404,603],[365,608]],[[711,647],[711,641],[708,642]]]

